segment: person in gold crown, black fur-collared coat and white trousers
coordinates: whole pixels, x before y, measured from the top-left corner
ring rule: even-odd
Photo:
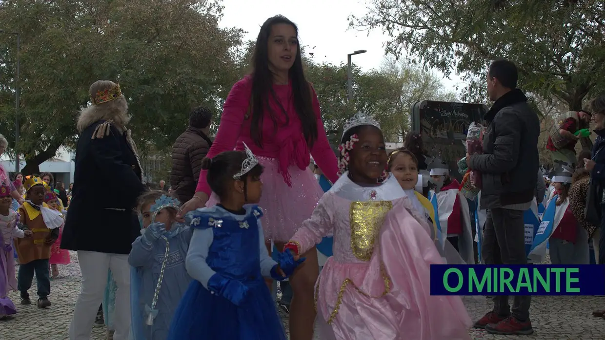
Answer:
[[[130,130],[128,105],[120,86],[99,80],[90,86],[92,105],[77,121],[80,138],[70,210],[61,248],[77,251],[82,283],[70,340],[90,339],[103,300],[108,270],[116,281],[114,340],[130,333],[130,265],[132,242],[140,235],[133,211],[145,190],[139,157]]]

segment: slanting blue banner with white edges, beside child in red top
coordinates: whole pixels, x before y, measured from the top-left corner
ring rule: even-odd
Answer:
[[[565,200],[563,204],[557,209],[557,195],[552,197],[551,202],[546,207],[544,214],[542,215],[542,222],[538,227],[537,233],[534,236],[534,242],[532,242],[531,249],[529,250],[528,258],[534,263],[540,263],[546,256],[546,246],[548,240],[551,238],[552,233],[557,228],[558,223],[561,221],[561,217],[567,210],[569,200]]]

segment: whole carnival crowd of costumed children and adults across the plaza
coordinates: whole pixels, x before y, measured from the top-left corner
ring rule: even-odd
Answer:
[[[76,251],[82,280],[71,340],[89,339],[95,322],[115,340],[286,339],[276,282],[292,340],[315,332],[469,339],[469,327],[529,335],[531,297],[515,296],[512,309],[508,297],[493,297],[494,308],[473,323],[460,297],[431,296],[430,265],[542,258],[541,243],[527,245],[524,220],[538,206],[537,220],[552,222],[543,242],[552,263],[589,263],[589,242],[605,263],[605,96],[555,124],[555,170],[528,176],[540,173],[540,122],[514,63],[492,62],[482,153],[464,158],[466,171],[480,174],[469,196],[422,136],[408,133],[405,147],[387,153],[380,124],[362,112],[342,127],[335,155],[288,19],[264,22],[252,60],[214,140],[212,112],[191,112],[174,144],[169,188],[143,184],[126,97],[106,80],[90,86],[91,105],[77,120],[68,190],[51,188],[50,173],[11,181],[0,167],[0,317],[17,312],[8,290],[31,304],[33,275],[36,306],[50,306],[56,265]],[[594,149],[577,157],[590,120]],[[1,152],[7,144],[0,138]]]

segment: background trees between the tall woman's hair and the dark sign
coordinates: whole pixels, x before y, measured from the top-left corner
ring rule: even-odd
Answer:
[[[410,130],[410,106],[419,100],[454,100],[441,80],[404,60],[386,59],[378,70],[362,72],[353,65],[353,102],[347,103],[347,65],[308,63],[307,77],[321,104],[326,129],[341,132],[357,111],[376,118],[388,141],[401,141]]]

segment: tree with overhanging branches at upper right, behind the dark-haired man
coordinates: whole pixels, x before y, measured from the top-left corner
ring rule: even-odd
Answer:
[[[485,79],[491,60],[512,60],[523,89],[578,111],[605,89],[603,13],[598,0],[371,0],[350,25],[385,31],[388,53],[408,51],[446,74]]]

